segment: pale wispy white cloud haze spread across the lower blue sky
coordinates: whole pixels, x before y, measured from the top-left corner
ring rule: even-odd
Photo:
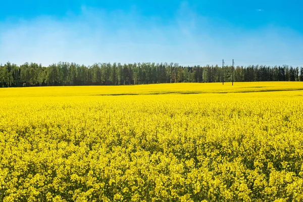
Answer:
[[[129,12],[111,13],[83,7],[80,15],[69,14],[61,19],[40,16],[0,23],[0,63],[193,65],[192,62],[222,59],[274,62],[301,58],[303,52],[303,36],[293,30],[264,27],[248,32],[235,26],[226,28],[195,13],[186,3],[166,24],[161,18],[146,18],[138,13],[135,7]]]

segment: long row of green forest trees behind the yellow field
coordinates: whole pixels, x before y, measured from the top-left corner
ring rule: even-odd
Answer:
[[[224,81],[232,80],[232,67],[225,66]],[[303,81],[302,67],[237,66],[234,81]],[[222,82],[222,67],[184,67],[174,63],[103,63],[92,66],[60,62],[43,67],[36,63],[0,65],[0,87],[59,85],[131,85],[179,82]]]

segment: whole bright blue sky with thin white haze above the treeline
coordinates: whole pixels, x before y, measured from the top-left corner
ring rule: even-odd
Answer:
[[[0,63],[303,66],[302,1],[1,1]]]

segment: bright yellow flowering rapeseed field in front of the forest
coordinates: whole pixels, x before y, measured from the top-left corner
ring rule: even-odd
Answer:
[[[302,201],[303,82],[0,88],[0,201]]]

